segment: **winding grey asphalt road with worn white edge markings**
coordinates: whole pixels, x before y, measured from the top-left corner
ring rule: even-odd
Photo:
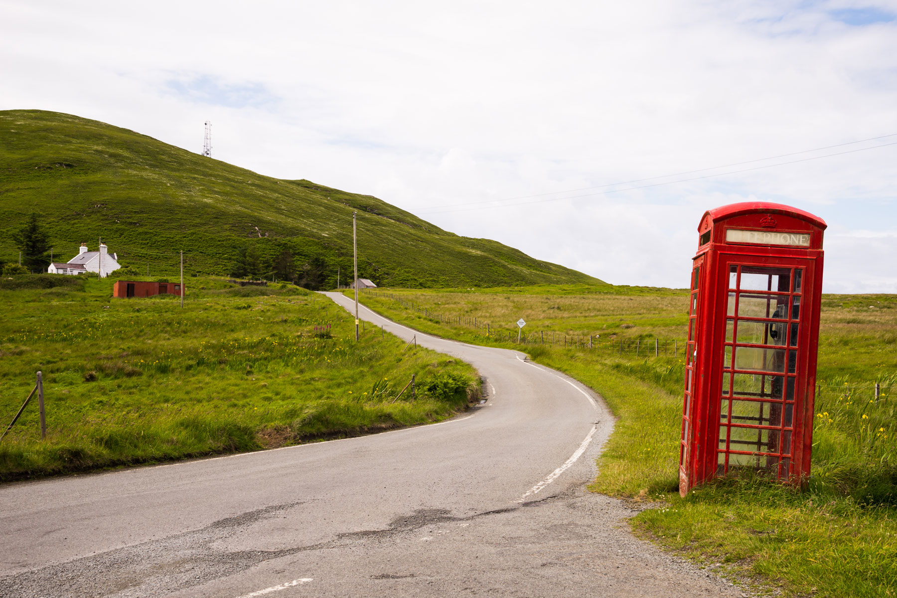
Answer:
[[[487,402],[374,436],[6,484],[0,596],[743,595],[585,490],[613,428],[596,394],[517,351],[361,317],[473,364]]]

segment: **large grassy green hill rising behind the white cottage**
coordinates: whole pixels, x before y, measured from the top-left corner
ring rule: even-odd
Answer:
[[[187,273],[226,275],[240,247],[255,247],[263,262],[289,249],[299,269],[318,256],[328,284],[337,267],[345,282],[357,211],[359,273],[381,286],[602,284],[371,195],[264,177],[86,118],[0,111],[0,260],[17,259],[10,233],[32,211],[56,261],[101,236],[119,262],[152,275],[175,273],[181,249]]]

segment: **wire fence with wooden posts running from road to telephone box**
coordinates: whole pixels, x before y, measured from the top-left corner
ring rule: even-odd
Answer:
[[[434,322],[445,325],[469,326],[479,331],[485,338],[501,342],[519,342],[520,344],[550,344],[558,347],[605,351],[617,355],[633,357],[682,357],[685,341],[681,339],[638,338],[608,339],[600,334],[562,334],[553,330],[530,330],[524,328],[505,328],[492,325],[478,316],[446,316],[424,307],[412,300],[382,290],[362,290],[364,295],[381,299],[392,299],[400,306],[414,311]]]

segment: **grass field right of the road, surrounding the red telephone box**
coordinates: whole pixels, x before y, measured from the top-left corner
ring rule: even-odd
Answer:
[[[632,519],[638,533],[760,590],[897,595],[897,297],[823,297],[806,490],[727,480],[684,499],[677,493],[683,364],[653,357],[654,338],[684,339],[684,291],[381,290],[364,291],[362,300],[431,334],[526,351],[602,394],[618,420],[592,490],[653,503]],[[545,331],[556,342],[566,335],[568,345],[509,342],[520,317],[532,339]],[[597,334],[608,345],[596,348]],[[614,351],[614,343],[637,339],[650,341],[650,357]],[[875,382],[884,391],[870,403]]]

